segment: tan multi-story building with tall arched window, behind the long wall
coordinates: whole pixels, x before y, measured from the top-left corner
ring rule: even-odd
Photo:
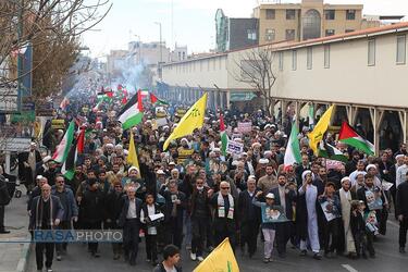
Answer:
[[[362,16],[362,4],[330,4],[323,0],[300,3],[261,3],[254,9],[259,20],[259,45],[301,41],[380,26]]]

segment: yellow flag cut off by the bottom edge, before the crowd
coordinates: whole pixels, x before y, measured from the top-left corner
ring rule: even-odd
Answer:
[[[239,272],[230,239],[225,238],[194,272]]]

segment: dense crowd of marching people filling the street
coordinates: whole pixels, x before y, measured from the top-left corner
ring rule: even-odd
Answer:
[[[386,235],[388,212],[393,212],[400,224],[399,252],[405,252],[405,145],[376,157],[331,139],[349,158],[347,163],[332,163],[313,156],[307,138],[310,127],[304,126],[298,135],[301,162],[285,166],[290,127],[274,123],[262,111],[223,112],[230,138],[244,145],[243,152],[224,154],[220,112],[208,111],[201,129],[172,141],[163,151],[177,116],[169,115],[166,124],[158,125],[154,107],[147,104],[144,121],[123,131],[115,118],[120,102],[104,102],[99,110],[87,112],[83,107],[83,100],[73,99],[59,116],[67,122],[75,119],[77,127],[86,126],[85,150],[78,154],[72,180],[61,174],[61,164],[39,153],[34,143],[21,157],[20,177],[29,190],[30,230],[122,228],[123,244],[112,244],[114,261],[135,265],[141,258],[138,247],[144,236],[143,258],[154,271],[181,271],[181,248],[189,250],[193,261],[202,261],[226,237],[235,254],[239,249],[249,258],[261,240],[265,263],[273,260],[274,250],[285,258],[288,243],[301,256],[310,249],[317,260],[322,259],[321,252],[324,258],[375,258],[375,237]],[[238,122],[251,122],[251,129],[239,131]],[[45,144],[52,151],[63,133],[49,129]],[[139,168],[126,160],[131,134]],[[383,186],[384,182],[393,186]],[[263,220],[265,209],[277,210],[286,220]],[[164,217],[149,217],[159,213]],[[37,269],[44,267],[44,251],[51,270],[54,251],[61,261],[66,248],[66,244],[54,248],[37,243]],[[89,243],[88,251],[100,257],[97,243]],[[159,252],[164,255],[160,263]]]

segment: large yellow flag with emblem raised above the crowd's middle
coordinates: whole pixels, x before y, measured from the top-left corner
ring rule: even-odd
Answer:
[[[178,122],[177,126],[174,128],[173,133],[164,141],[163,150],[166,150],[170,141],[173,139],[181,138],[183,136],[189,135],[196,128],[200,128],[203,123],[203,118],[206,114],[207,106],[207,92],[197,100],[195,104],[183,115],[182,120]]]

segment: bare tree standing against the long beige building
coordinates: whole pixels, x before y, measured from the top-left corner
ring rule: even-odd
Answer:
[[[270,47],[250,49],[235,59],[239,74],[233,74],[236,81],[256,89],[258,97],[264,99],[267,111],[271,116],[274,111],[272,87],[276,82],[276,74],[273,71],[274,59],[275,52]]]

